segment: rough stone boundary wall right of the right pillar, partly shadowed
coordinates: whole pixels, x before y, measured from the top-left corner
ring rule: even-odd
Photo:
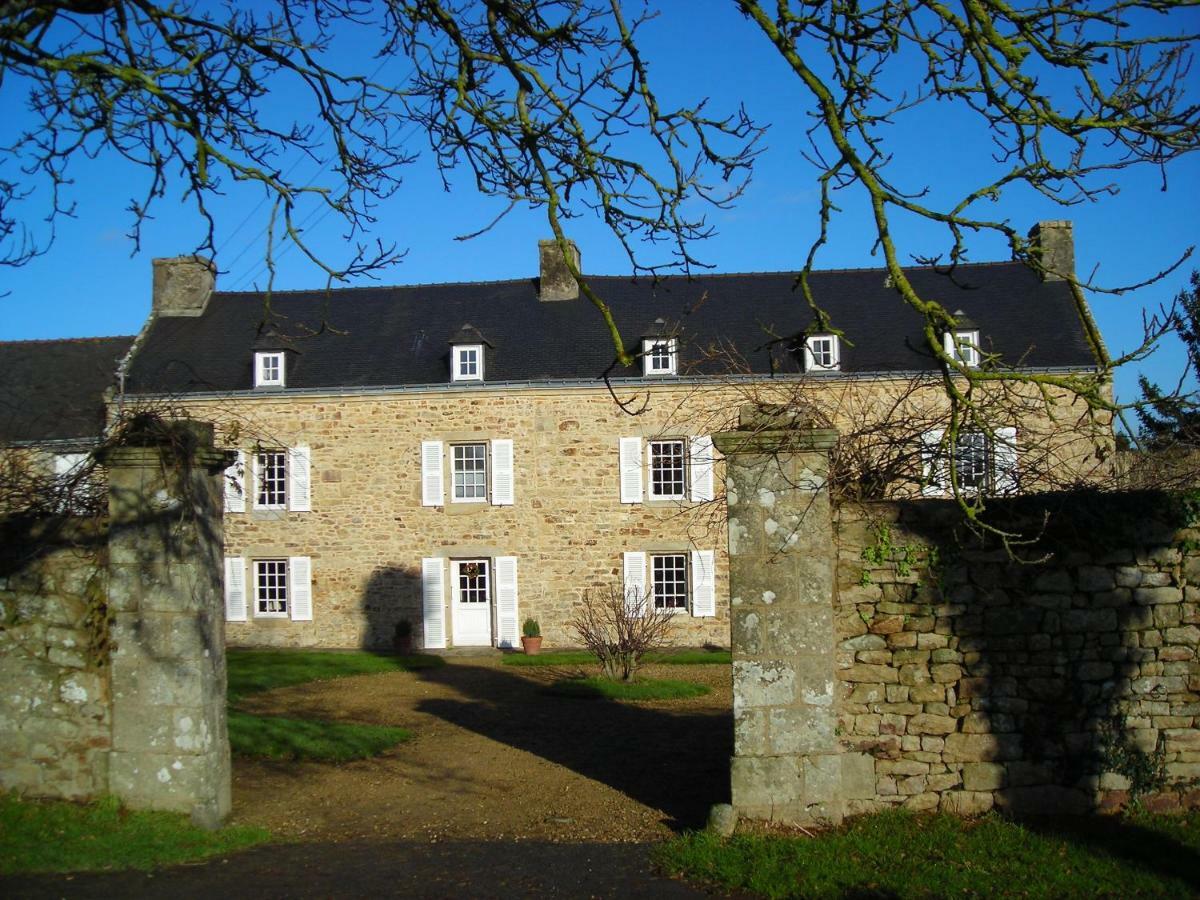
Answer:
[[[1018,552],[1052,557],[1013,563],[947,502],[836,512],[838,727],[874,761],[846,811],[1121,805],[1106,728],[1163,754],[1150,805],[1200,805],[1200,530],[1166,494],[992,506],[1025,533],[1050,509]]]

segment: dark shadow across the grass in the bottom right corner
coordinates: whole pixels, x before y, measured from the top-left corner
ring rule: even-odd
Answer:
[[[1028,816],[1022,827],[1145,871],[1178,878],[1200,894],[1200,853],[1160,830],[1118,816]]]

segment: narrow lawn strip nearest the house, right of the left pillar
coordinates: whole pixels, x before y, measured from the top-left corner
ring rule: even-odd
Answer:
[[[415,672],[444,666],[440,656],[323,650],[229,650],[229,700],[305,682],[383,672]]]

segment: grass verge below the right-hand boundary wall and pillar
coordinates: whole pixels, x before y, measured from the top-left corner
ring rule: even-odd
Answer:
[[[1189,896],[1200,812],[1019,824],[904,811],[818,838],[686,834],[658,851],[674,875],[792,896]]]

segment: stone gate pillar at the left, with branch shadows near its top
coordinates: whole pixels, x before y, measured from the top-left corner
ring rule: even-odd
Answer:
[[[136,430],[134,430],[136,431]],[[229,814],[222,451],[206,422],[151,421],[103,458],[109,485],[113,749],[132,808]]]

